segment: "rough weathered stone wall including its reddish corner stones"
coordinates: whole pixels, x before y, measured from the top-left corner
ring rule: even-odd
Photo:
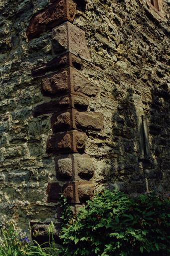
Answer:
[[[23,230],[57,224],[65,188],[170,192],[170,6],[63,2],[0,2],[0,220]]]

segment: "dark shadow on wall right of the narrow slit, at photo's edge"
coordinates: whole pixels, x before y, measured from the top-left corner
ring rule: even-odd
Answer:
[[[170,87],[164,81],[154,85],[149,130],[154,168],[149,173],[149,189],[170,195]]]

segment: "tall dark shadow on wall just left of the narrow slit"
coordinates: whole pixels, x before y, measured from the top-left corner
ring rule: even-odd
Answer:
[[[117,93],[116,89],[113,90],[115,98],[119,96]],[[116,154],[110,159],[115,173],[111,174],[109,185],[129,193],[144,192],[146,184],[139,162],[139,120],[132,88],[128,88],[123,97],[119,98],[112,122]]]

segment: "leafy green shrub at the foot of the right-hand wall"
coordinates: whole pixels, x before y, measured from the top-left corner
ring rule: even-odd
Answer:
[[[62,228],[59,255],[170,256],[170,200],[105,190]]]

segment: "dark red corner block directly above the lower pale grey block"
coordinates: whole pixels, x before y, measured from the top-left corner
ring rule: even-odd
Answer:
[[[47,153],[83,153],[86,134],[77,130],[52,134],[47,141]]]

